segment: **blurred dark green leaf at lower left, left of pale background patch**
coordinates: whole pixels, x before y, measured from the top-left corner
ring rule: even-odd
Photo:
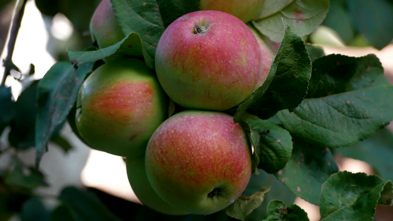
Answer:
[[[16,158],[13,158],[12,161],[13,169],[11,169],[5,177],[6,184],[30,190],[40,186],[48,186],[44,175],[39,170],[33,167],[24,168]]]

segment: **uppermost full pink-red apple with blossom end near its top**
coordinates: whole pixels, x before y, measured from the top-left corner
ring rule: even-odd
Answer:
[[[155,68],[169,97],[189,109],[226,110],[255,89],[261,50],[239,18],[195,11],[172,22],[158,42]]]

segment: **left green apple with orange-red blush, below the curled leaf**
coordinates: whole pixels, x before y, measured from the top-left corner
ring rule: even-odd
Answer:
[[[105,63],[83,82],[75,123],[90,147],[119,156],[144,153],[167,118],[167,98],[139,59]]]

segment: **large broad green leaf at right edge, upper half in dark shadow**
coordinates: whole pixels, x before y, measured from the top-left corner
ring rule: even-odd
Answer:
[[[280,111],[284,127],[325,147],[354,145],[393,119],[393,86],[375,55],[328,55],[312,63],[308,99]]]

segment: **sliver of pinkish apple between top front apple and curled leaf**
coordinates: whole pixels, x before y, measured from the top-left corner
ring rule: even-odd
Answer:
[[[275,53],[272,51],[271,48],[275,48],[275,46],[272,44],[272,41],[269,39],[265,38],[263,39],[262,35],[259,33],[257,29],[255,29],[252,25],[248,25],[252,33],[255,35],[255,38],[257,39],[257,42],[259,44],[259,48],[261,49],[262,53],[262,72],[261,75],[259,76],[258,82],[257,82],[257,87],[261,86],[263,82],[266,80],[266,77],[269,74],[270,67],[272,66],[273,59],[275,57]],[[268,41],[270,43],[271,48],[269,45],[266,43]],[[255,88],[255,89],[256,89]]]

